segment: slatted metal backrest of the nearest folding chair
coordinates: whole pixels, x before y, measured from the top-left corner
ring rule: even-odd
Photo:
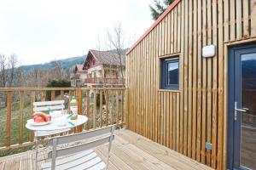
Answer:
[[[67,136],[59,136],[49,139],[49,146],[52,146],[52,150],[49,151],[48,157],[51,158],[51,169],[55,169],[55,160],[59,156],[67,156],[74,153],[81,152],[82,150],[89,150],[96,148],[102,144],[108,145],[108,157],[107,157],[107,167],[109,160],[109,152],[111,150],[112,140],[114,139],[113,131],[115,126],[104,127],[96,130],[92,130],[85,133],[70,134]],[[59,144],[68,144],[78,142],[84,139],[89,139],[90,142],[84,144],[75,144],[67,148],[57,149]]]

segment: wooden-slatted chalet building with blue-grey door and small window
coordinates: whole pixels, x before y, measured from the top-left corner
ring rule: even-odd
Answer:
[[[256,169],[256,0],[175,0],[126,53],[126,125],[217,169]]]

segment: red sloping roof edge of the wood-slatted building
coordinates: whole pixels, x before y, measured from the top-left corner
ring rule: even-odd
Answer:
[[[143,34],[143,36],[140,37],[140,38],[137,40],[137,42],[135,42],[135,43],[131,46],[131,48],[128,49],[128,51],[126,52],[126,55],[130,54],[131,51],[132,51],[134,48],[136,48],[137,45],[138,45],[141,41],[143,41],[143,39],[144,39],[145,37],[148,36],[148,34],[154,29],[154,27],[157,26],[157,25],[160,23],[160,21],[162,21],[162,20],[166,17],[166,15],[169,14],[170,11],[172,11],[172,8],[174,8],[174,7],[177,5],[177,3],[179,3],[180,1],[181,1],[181,0],[175,0],[168,8],[166,8],[166,11],[165,11],[163,14],[161,14],[160,17],[159,17],[157,20],[154,21],[154,24],[148,28],[148,30]]]

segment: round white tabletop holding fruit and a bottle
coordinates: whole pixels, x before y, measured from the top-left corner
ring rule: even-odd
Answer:
[[[67,117],[67,116],[68,115],[63,115],[62,117]],[[26,123],[26,128],[32,131],[55,131],[55,130],[61,130],[65,128],[77,127],[88,121],[87,116],[78,115],[77,120],[67,119],[67,123],[64,126],[63,125],[60,126],[58,124],[58,118],[60,117],[52,119],[52,121],[49,122],[49,124],[45,124],[45,125],[32,125],[31,123]]]

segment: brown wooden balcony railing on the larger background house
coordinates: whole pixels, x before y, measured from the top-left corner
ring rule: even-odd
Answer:
[[[90,84],[125,84],[124,78],[86,78],[84,83]]]

